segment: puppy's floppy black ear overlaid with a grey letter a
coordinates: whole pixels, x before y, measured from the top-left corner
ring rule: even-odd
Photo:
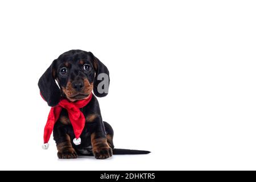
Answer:
[[[96,71],[93,92],[97,97],[105,97],[109,92],[109,70],[92,52],[89,53],[92,56],[93,67]]]

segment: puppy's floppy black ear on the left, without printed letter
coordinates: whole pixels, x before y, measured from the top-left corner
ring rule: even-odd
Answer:
[[[55,63],[56,60],[52,62],[38,81],[40,93],[49,106],[56,106],[61,96],[60,89],[55,82]]]

